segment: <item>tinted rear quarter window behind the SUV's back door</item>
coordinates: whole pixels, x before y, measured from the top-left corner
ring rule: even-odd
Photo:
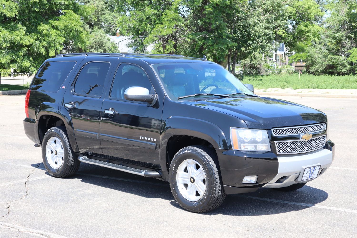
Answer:
[[[75,61],[45,62],[37,72],[31,90],[57,92],[75,64]]]

